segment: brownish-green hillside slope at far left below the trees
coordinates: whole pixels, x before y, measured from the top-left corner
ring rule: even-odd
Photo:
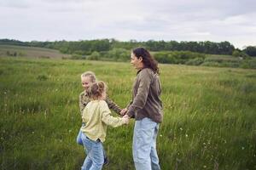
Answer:
[[[32,57],[32,58],[69,58],[70,54],[61,54],[58,50],[49,48],[35,48],[17,45],[1,45],[0,44],[0,57],[13,56],[13,57]]]

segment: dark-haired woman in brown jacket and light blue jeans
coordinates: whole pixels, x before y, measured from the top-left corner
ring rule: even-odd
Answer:
[[[145,48],[132,50],[131,65],[137,69],[137,78],[126,116],[134,116],[136,120],[132,143],[133,161],[137,170],[158,170],[160,164],[156,137],[163,119],[159,68]],[[124,112],[121,111],[122,114]]]

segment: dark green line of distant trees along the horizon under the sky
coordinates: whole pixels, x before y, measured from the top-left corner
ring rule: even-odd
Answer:
[[[121,42],[115,39],[96,39],[83,41],[55,41],[55,42],[21,42],[12,39],[0,39],[0,44],[21,45],[28,47],[52,48],[60,50],[64,54],[90,55],[93,52],[106,52],[114,48],[145,47],[150,51],[190,51],[201,54],[232,54],[235,50],[249,56],[256,56],[256,47],[249,46],[243,50],[235,48],[230,42],[177,42],[177,41],[154,41],[137,42],[131,40]]]

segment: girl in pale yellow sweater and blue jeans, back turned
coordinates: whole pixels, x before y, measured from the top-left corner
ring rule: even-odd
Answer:
[[[85,125],[81,127],[83,132],[81,138],[87,153],[82,170],[102,169],[104,162],[102,143],[106,138],[107,125],[119,127],[129,122],[127,117],[110,115],[111,112],[105,101],[106,88],[104,82],[94,82],[88,90],[91,101],[84,108],[82,119]]]

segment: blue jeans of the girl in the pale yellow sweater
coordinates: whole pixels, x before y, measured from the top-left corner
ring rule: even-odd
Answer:
[[[81,139],[84,144],[84,150],[87,154],[82,170],[99,170],[102,169],[104,156],[103,147],[100,139],[97,141],[91,140],[84,133],[81,134]]]

